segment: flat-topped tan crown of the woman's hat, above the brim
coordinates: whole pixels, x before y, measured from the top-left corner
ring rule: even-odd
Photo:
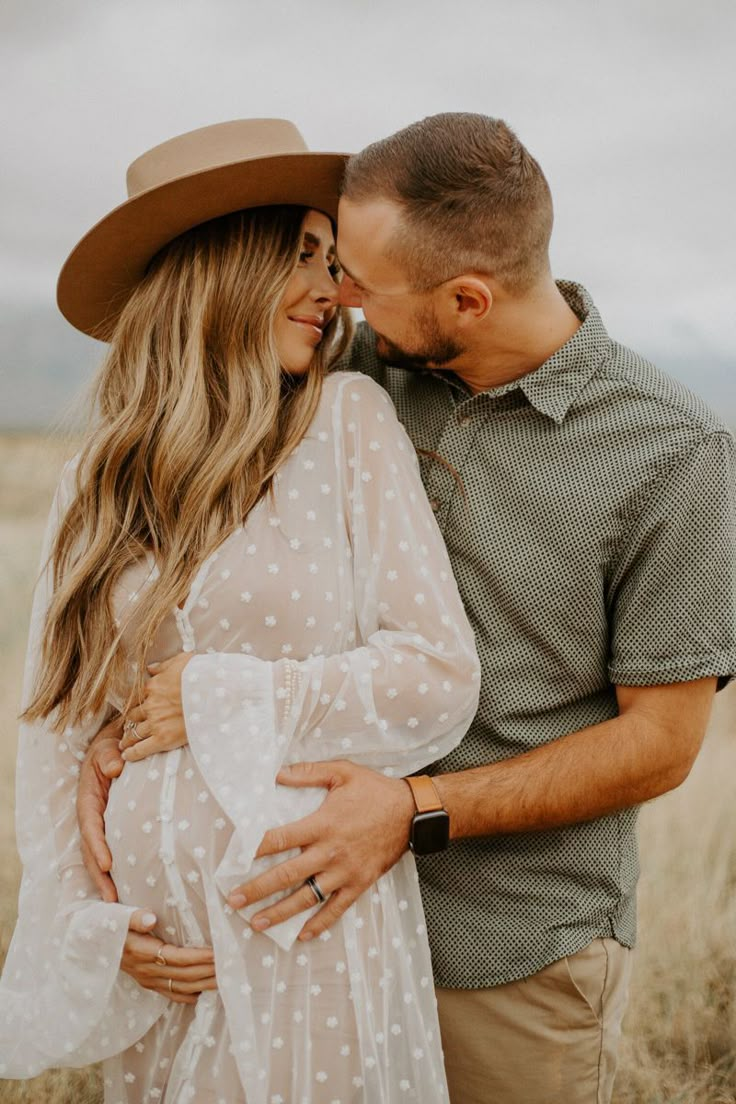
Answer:
[[[128,167],[128,195],[234,161],[305,152],[307,144],[288,119],[217,123],[170,138],[136,158]]]

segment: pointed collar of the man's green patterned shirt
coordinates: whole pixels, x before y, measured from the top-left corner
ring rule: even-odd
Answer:
[[[484,401],[489,397],[497,399],[519,389],[540,413],[558,425],[565,420],[588,380],[608,357],[611,340],[593,299],[580,284],[557,280],[557,287],[569,308],[580,319],[580,328],[540,368],[518,380],[490,388],[476,395],[476,400],[483,396]],[[460,380],[448,378],[447,382],[459,388],[463,399],[468,399],[468,390]]]

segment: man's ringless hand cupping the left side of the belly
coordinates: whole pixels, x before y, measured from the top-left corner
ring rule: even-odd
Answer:
[[[118,894],[109,871],[113,856],[105,839],[105,808],[110,782],[125,766],[119,751],[122,719],[116,718],[100,729],[87,749],[79,769],[76,815],[82,834],[82,858],[87,873],[103,901],[117,901]]]

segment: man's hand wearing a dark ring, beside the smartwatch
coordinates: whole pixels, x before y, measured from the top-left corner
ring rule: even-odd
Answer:
[[[312,890],[305,885],[314,877],[329,900],[301,930],[299,938],[311,940],[401,859],[408,846],[414,798],[403,779],[344,760],[297,763],[285,767],[276,781],[284,786],[324,786],[329,793],[316,813],[266,832],[256,858],[297,847],[301,853],[238,885],[228,901],[243,909],[294,889],[252,919],[252,926],[264,931],[314,904]]]

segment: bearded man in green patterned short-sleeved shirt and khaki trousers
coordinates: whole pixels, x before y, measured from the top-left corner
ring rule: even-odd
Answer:
[[[454,1104],[610,1098],[637,806],[686,777],[736,671],[734,440],[611,341],[582,287],[555,284],[551,230],[544,176],[500,120],[435,116],[349,163],[342,298],[367,327],[343,367],[386,388],[420,450],[480,708],[425,783],[448,847],[416,784],[297,765],[279,782],[326,786],[324,804],[260,853],[301,853],[231,898],[291,889],[264,927],[307,907],[316,878],[314,937],[412,836]],[[104,771],[119,762],[98,749],[81,819],[105,869]]]

